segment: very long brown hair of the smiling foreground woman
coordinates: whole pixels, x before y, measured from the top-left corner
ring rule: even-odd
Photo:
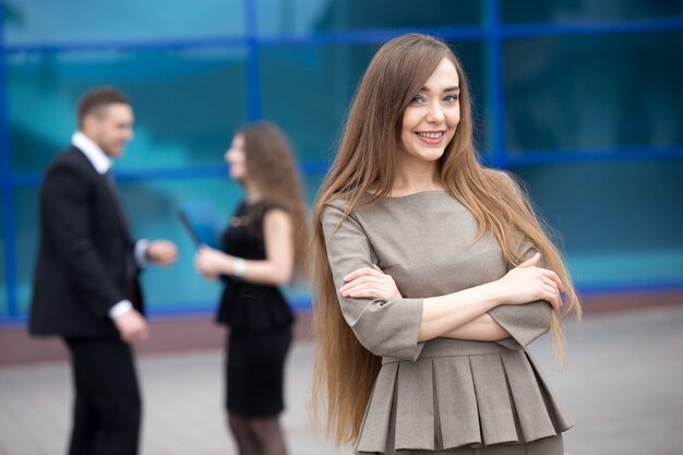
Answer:
[[[380,359],[363,348],[342,314],[327,261],[322,230],[325,204],[342,199],[347,215],[391,194],[396,175],[403,115],[410,99],[443,61],[459,76],[460,121],[454,139],[438,163],[441,184],[479,223],[479,236],[491,231],[505,260],[519,264],[519,243],[529,241],[565,285],[570,310],[580,316],[580,304],[562,258],[535,215],[528,197],[507,175],[483,168],[472,144],[472,119],[467,79],[448,46],[435,38],[410,34],[386,43],[375,53],[357,89],[336,158],[321,187],[313,213],[313,313],[315,364],[312,406],[320,423],[337,443],[358,438],[366,405],[380,370]],[[366,194],[373,194],[366,197]],[[361,201],[363,197],[363,201]],[[366,200],[370,200],[366,202]],[[563,337],[553,312],[551,332],[559,358]]]

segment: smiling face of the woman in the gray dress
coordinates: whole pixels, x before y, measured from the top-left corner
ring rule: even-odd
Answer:
[[[403,157],[436,161],[460,121],[459,79],[451,60],[443,59],[404,112]]]

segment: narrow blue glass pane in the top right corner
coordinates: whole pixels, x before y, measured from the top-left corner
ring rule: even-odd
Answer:
[[[679,0],[501,0],[505,23],[552,23],[639,21],[683,17]]]

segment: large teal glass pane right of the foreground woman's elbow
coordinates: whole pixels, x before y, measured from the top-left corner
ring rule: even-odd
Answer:
[[[683,283],[683,163],[513,169],[563,240],[579,286]]]

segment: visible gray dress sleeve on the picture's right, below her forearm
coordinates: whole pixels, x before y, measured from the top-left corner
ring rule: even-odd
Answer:
[[[518,251],[523,261],[536,253],[535,248],[528,242],[523,243]],[[542,259],[540,266],[544,266]],[[511,338],[498,343],[511,349],[524,349],[548,333],[551,314],[552,307],[546,300],[526,304],[502,304],[489,311],[489,315],[511,335]]]

